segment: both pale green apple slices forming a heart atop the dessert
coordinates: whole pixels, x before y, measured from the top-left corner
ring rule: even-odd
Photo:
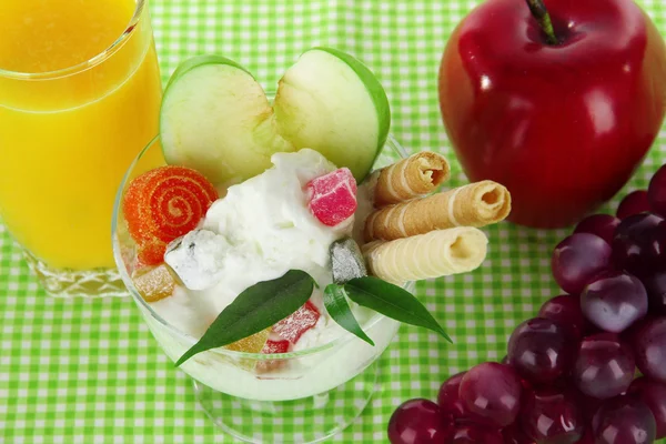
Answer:
[[[162,101],[167,162],[215,184],[262,173],[280,151],[311,148],[361,181],[386,141],[389,100],[372,72],[343,52],[304,52],[280,80],[274,104],[256,80],[223,57],[181,64]]]

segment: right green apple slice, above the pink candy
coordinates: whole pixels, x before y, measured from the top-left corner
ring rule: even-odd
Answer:
[[[389,99],[374,74],[329,48],[304,52],[280,80],[273,104],[279,131],[363,180],[391,125]]]

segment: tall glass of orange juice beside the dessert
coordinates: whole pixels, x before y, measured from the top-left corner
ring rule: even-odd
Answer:
[[[123,294],[113,196],[162,91],[148,4],[3,0],[0,23],[2,222],[50,294]]]

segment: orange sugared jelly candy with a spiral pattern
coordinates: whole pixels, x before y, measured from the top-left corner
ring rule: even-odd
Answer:
[[[148,265],[163,262],[167,244],[194,230],[216,199],[213,184],[184,167],[160,167],[134,179],[122,211],[139,244],[139,260]]]

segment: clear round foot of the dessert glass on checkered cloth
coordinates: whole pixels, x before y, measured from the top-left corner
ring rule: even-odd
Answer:
[[[295,401],[251,401],[196,381],[194,393],[206,415],[225,433],[248,443],[317,443],[356,420],[380,389],[380,362],[345,384]]]

